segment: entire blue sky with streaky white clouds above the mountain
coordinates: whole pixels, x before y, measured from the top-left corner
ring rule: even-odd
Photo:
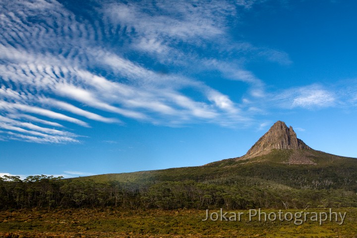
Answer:
[[[238,157],[276,120],[357,157],[357,2],[0,6],[0,175],[66,178]]]

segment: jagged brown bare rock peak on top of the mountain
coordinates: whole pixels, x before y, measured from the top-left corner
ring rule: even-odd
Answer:
[[[265,155],[272,149],[311,150],[309,146],[297,138],[292,126],[288,127],[284,121],[278,120],[243,157],[252,158]]]

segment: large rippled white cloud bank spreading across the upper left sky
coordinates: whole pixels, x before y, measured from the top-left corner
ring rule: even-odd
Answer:
[[[227,23],[238,24],[239,11],[255,2],[99,1],[81,15],[71,11],[70,2],[5,0],[0,115],[11,120],[1,122],[0,138],[79,142],[80,135],[68,131],[90,127],[92,120],[245,123],[252,110],[244,111],[240,102],[185,72],[193,65],[197,71],[218,70],[223,78],[250,85],[252,97],[264,97],[263,81],[230,59],[253,54],[290,64],[289,56],[245,42],[232,47],[227,31]],[[296,105],[307,101],[300,98]]]

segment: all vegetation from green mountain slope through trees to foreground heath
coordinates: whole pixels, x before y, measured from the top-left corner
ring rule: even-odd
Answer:
[[[313,164],[297,165],[289,164],[291,154],[274,150],[249,160],[74,179],[4,176],[0,236],[357,236],[357,160],[309,151],[306,155]],[[333,208],[348,214],[344,225],[201,221],[205,209],[220,208],[245,212]]]

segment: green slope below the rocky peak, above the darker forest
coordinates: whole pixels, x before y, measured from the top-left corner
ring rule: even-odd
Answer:
[[[251,179],[259,183],[275,183],[294,188],[345,189],[357,191],[357,159],[309,150],[304,156],[316,165],[287,164],[292,150],[272,153],[249,160],[227,159],[205,166],[184,167],[135,173],[106,174],[76,178],[96,182],[120,181],[157,183],[193,180],[203,183],[250,186]]]

